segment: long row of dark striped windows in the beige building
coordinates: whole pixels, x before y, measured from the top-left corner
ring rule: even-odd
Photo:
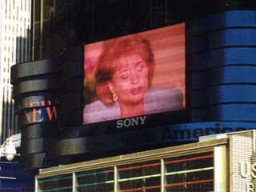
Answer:
[[[95,166],[94,166],[95,167]],[[38,179],[38,191],[210,192],[214,191],[214,153],[121,164]],[[75,181],[75,183],[72,182]]]

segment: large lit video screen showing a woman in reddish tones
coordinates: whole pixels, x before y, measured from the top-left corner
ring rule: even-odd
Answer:
[[[85,45],[84,57],[84,125],[186,107],[184,23]]]

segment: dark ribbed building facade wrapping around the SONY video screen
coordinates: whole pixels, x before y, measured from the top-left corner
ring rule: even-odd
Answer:
[[[255,2],[191,1],[186,5],[198,7],[188,12],[182,1],[34,3],[38,3],[33,5],[37,61],[12,67],[27,170],[196,142],[201,135],[255,129]],[[132,14],[125,11],[135,5]],[[74,7],[81,12],[73,12]],[[177,22],[185,22],[189,34],[184,121],[163,126],[148,123],[145,129],[117,130],[112,122],[109,130],[104,130],[104,124],[85,128],[84,44]],[[155,119],[166,120],[161,116]]]

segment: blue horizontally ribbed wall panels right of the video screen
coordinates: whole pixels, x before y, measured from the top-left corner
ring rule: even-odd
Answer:
[[[193,122],[255,121],[255,18],[234,10],[194,22]]]

